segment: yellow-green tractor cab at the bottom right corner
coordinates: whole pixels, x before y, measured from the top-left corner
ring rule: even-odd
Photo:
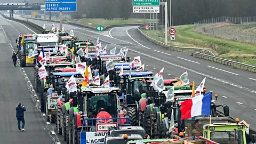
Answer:
[[[205,124],[203,137],[218,143],[249,143],[246,141],[246,126],[238,122]]]

